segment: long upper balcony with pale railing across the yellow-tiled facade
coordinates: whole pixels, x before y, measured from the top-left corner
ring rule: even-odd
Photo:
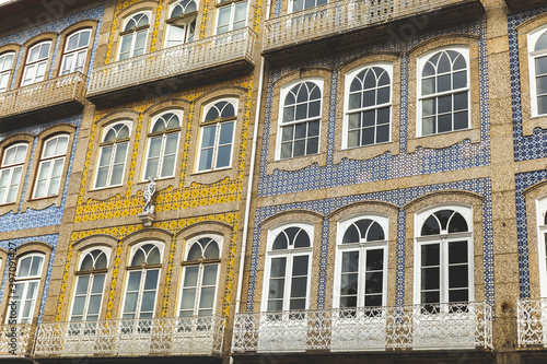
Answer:
[[[233,78],[253,68],[255,43],[256,34],[244,27],[93,68],[88,97],[104,104],[136,95],[158,97],[193,83]]]

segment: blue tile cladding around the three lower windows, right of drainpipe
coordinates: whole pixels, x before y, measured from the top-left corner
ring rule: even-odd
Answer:
[[[255,216],[255,231],[253,237],[253,249],[251,260],[249,284],[247,292],[247,312],[253,312],[255,305],[255,293],[257,286],[257,272],[258,272],[258,251],[260,239],[260,224],[261,222],[282,211],[305,209],[323,214],[323,231],[321,240],[321,261],[319,261],[319,280],[318,280],[318,297],[317,307],[323,308],[325,305],[325,296],[331,294],[327,291],[327,255],[334,254],[334,243],[328,240],[329,236],[329,221],[326,218],[333,211],[348,206],[350,203],[360,201],[383,201],[398,206],[400,208],[398,222],[397,222],[397,273],[396,273],[396,304],[401,305],[405,297],[405,279],[412,279],[405,277],[405,232],[406,232],[406,216],[404,206],[421,196],[431,192],[446,191],[446,190],[463,190],[475,192],[484,197],[482,202],[482,242],[474,242],[475,244],[482,244],[484,248],[484,271],[485,271],[485,300],[493,303],[493,246],[492,246],[492,203],[491,203],[491,183],[488,178],[470,179],[454,181],[449,184],[430,185],[422,187],[414,187],[406,189],[396,189],[391,191],[381,191],[365,195],[354,195],[309,202],[295,202],[290,204],[274,206],[259,208]]]

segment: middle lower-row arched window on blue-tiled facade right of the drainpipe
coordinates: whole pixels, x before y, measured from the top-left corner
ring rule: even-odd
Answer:
[[[335,307],[386,305],[387,219],[360,216],[339,224]]]

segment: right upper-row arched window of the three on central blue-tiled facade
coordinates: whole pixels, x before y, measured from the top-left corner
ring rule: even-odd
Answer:
[[[469,128],[469,49],[454,47],[419,59],[421,132]]]

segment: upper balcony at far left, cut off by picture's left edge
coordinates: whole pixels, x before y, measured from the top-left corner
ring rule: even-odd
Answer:
[[[86,81],[85,75],[74,72],[1,93],[0,130],[12,126],[14,120],[24,126],[80,111]]]

